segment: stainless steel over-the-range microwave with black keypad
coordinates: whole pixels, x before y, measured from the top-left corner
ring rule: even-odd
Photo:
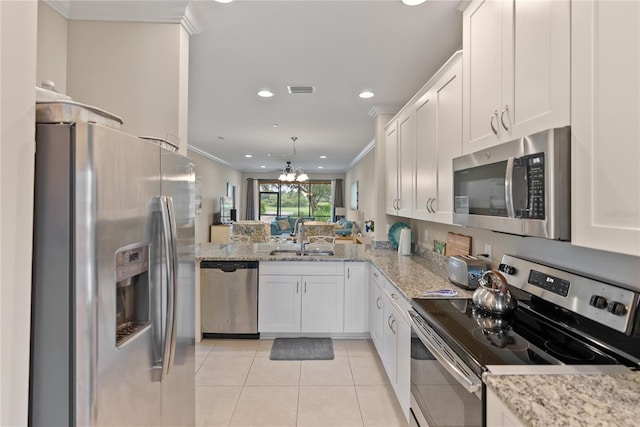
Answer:
[[[453,159],[454,224],[570,240],[570,146],[566,126]]]

